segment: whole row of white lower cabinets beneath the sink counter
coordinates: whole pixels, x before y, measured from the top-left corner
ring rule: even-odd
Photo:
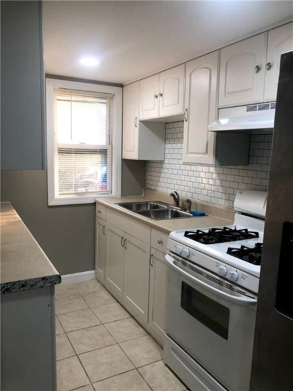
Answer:
[[[96,216],[97,279],[163,345],[168,235],[122,213],[105,214],[107,221]]]

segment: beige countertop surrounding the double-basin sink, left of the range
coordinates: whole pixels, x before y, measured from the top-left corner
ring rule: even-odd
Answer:
[[[152,220],[150,218],[140,216],[137,213],[128,211],[127,209],[122,208],[121,206],[114,205],[116,203],[122,202],[141,202],[141,201],[164,201],[158,198],[157,193],[154,193],[154,196],[151,194],[140,196],[140,197],[110,197],[110,198],[99,198],[96,199],[95,202],[97,204],[103,205],[106,208],[112,209],[116,212],[120,212],[125,216],[131,217],[134,220],[143,222],[150,227],[153,227],[159,231],[163,231],[169,234],[172,231],[179,230],[190,230],[190,229],[198,229],[198,228],[207,228],[207,227],[219,227],[219,226],[227,226],[233,224],[233,220],[228,219],[231,218],[231,212],[227,211],[227,219],[222,217],[217,217],[213,215],[206,215],[201,217],[188,217],[188,218],[175,218],[171,220]],[[157,198],[155,198],[157,196]],[[201,208],[203,210],[203,208]]]

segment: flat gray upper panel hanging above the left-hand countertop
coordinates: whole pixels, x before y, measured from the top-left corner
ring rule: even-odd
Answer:
[[[1,166],[42,169],[40,4],[1,2]]]

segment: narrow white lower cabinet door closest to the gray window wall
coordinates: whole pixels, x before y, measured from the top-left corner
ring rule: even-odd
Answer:
[[[96,277],[105,280],[106,221],[96,217]]]

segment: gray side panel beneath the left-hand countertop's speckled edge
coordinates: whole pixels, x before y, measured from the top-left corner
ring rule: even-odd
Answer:
[[[55,390],[53,294],[43,287],[1,295],[2,391]]]

